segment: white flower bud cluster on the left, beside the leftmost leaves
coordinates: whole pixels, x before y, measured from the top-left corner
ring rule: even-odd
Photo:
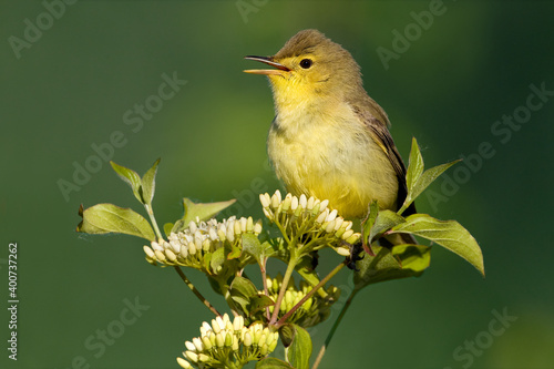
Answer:
[[[232,216],[223,222],[209,219],[208,222],[191,222],[188,228],[179,233],[172,233],[167,240],[152,242],[151,246],[144,246],[146,260],[157,265],[188,266],[208,274],[217,274],[220,265],[213,270],[209,258],[218,249],[228,243],[229,249],[239,247],[240,235],[252,233],[258,235],[261,232],[261,221],[254,223],[252,217],[236,219]],[[223,250],[222,250],[223,252]]]

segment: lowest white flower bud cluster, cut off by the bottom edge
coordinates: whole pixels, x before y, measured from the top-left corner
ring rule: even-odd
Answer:
[[[201,337],[185,342],[184,358],[178,357],[177,362],[182,368],[242,368],[275,350],[278,340],[279,334],[260,322],[245,327],[243,317],[230,321],[225,314],[212,325],[202,324]]]

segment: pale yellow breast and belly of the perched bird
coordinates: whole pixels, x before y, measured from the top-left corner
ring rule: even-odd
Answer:
[[[356,115],[335,116],[276,119],[267,148],[277,176],[288,192],[329,199],[346,218],[363,217],[373,199],[396,208],[398,180],[387,155]]]

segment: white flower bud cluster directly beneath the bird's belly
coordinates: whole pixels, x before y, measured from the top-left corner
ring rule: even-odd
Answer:
[[[341,242],[355,244],[361,237],[352,229],[352,222],[338,216],[336,209],[329,209],[327,199],[307,198],[304,194],[300,197],[287,194],[283,198],[277,189],[273,196],[267,193],[259,195],[259,201],[269,221],[290,237],[312,242],[311,249],[334,246],[337,253],[347,256],[350,250],[341,246]]]

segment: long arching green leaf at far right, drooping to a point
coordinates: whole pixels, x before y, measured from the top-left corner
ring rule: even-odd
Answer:
[[[430,239],[468,260],[484,276],[483,254],[478,242],[455,221],[439,221],[427,214],[413,214],[392,230]]]

